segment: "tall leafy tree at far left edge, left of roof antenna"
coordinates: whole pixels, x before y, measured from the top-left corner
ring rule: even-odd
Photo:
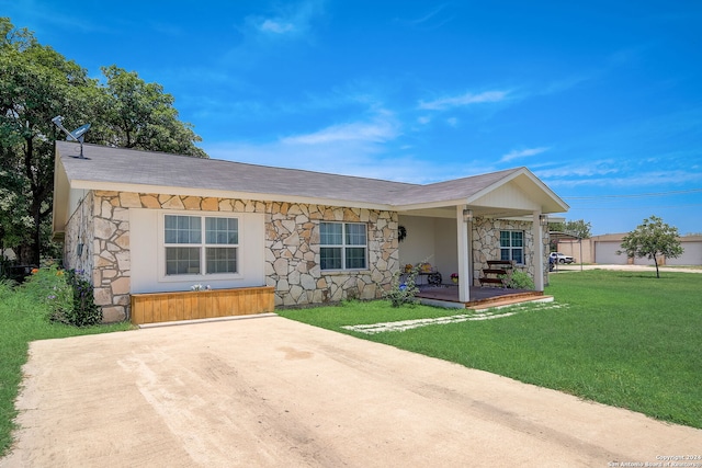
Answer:
[[[59,111],[80,115],[80,89],[94,82],[7,18],[0,18],[0,41],[1,243],[21,263],[38,264],[54,189],[52,117]]]

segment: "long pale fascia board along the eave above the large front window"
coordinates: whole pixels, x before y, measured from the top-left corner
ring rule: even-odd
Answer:
[[[165,195],[184,195],[184,196],[203,196],[213,198],[239,198],[251,199],[256,202],[286,202],[286,203],[299,203],[304,205],[321,205],[321,206],[336,206],[346,208],[366,208],[377,209],[383,212],[395,212],[395,207],[381,203],[369,202],[354,202],[348,199],[336,198],[317,198],[312,196],[302,195],[282,195],[261,192],[233,192],[223,190],[211,189],[194,189],[194,187],[174,187],[167,185],[140,185],[140,184],[124,184],[115,182],[95,182],[87,180],[72,180],[70,182],[72,189],[84,189],[106,192],[131,192],[131,193],[154,193]]]

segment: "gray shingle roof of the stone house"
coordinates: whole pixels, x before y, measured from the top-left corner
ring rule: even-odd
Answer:
[[[394,206],[454,201],[523,170],[419,185],[97,145],[84,145],[89,159],[81,160],[71,158],[79,155],[78,144],[57,141],[56,147],[68,180],[95,187],[100,183],[172,186],[281,195],[281,201],[299,196]]]

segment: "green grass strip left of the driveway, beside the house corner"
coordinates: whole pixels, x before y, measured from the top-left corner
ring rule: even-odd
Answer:
[[[22,366],[27,359],[29,344],[35,340],[106,333],[131,329],[129,323],[75,328],[52,323],[49,306],[39,299],[41,288],[13,288],[0,282],[0,457],[12,443],[14,400],[22,383]]]

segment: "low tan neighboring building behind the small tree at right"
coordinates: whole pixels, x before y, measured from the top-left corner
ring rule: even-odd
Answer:
[[[622,251],[622,240],[629,232],[592,236],[589,239],[562,240],[558,252],[573,255],[578,262],[601,265],[653,265],[647,258],[629,259]],[[702,236],[683,236],[678,240],[683,249],[677,259],[659,259],[660,265],[702,265]],[[580,253],[581,252],[581,253]]]

